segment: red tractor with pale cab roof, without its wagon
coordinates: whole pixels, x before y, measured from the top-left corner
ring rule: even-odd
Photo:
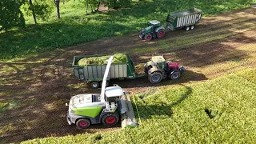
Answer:
[[[166,61],[162,56],[154,56],[144,65],[144,71],[151,83],[158,83],[166,78],[178,79],[185,70],[177,62]]]

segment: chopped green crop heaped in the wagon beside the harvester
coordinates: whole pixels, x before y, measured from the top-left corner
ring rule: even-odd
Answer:
[[[78,61],[78,65],[79,66],[103,65],[103,64],[107,64],[107,60],[109,58],[110,56],[82,58]],[[127,61],[126,54],[114,54],[114,59],[112,63],[124,63],[126,61]]]

